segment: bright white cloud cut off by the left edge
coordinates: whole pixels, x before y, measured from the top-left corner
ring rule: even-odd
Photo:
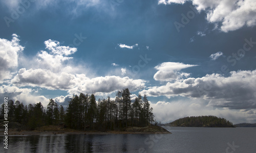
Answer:
[[[18,54],[23,49],[16,34],[12,35],[11,41],[0,38],[0,83],[4,79],[10,79],[11,69],[18,66]]]

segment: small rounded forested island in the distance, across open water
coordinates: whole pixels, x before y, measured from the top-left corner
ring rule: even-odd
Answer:
[[[233,123],[230,121],[216,116],[184,117],[165,125],[187,127],[234,127]]]

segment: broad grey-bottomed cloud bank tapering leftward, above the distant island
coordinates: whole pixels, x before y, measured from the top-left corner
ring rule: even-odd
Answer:
[[[160,87],[142,90],[148,96],[184,96],[209,100],[209,106],[228,109],[256,108],[256,70],[232,71],[229,77],[207,74],[202,78],[188,78]]]

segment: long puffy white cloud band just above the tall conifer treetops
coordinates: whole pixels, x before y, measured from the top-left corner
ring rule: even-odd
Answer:
[[[91,93],[92,91],[111,93],[124,88],[136,91],[145,87],[144,80],[133,80],[128,77],[106,76],[89,79],[85,74],[53,73],[46,69],[26,70],[25,68],[19,70],[11,83],[20,87],[32,86],[50,90],[66,90],[70,94]]]

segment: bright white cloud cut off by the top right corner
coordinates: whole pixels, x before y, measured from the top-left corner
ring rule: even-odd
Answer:
[[[238,30],[244,25],[253,27],[256,25],[256,1],[254,0],[159,0],[158,4],[184,4],[193,2],[197,10],[205,11],[206,19],[211,23],[221,23],[221,31],[228,32]]]

